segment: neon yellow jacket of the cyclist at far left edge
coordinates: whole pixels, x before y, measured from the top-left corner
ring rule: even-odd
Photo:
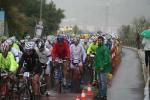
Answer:
[[[0,68],[4,70],[9,70],[11,72],[16,72],[18,69],[18,64],[15,61],[14,55],[8,52],[7,57],[4,58],[0,53]]]

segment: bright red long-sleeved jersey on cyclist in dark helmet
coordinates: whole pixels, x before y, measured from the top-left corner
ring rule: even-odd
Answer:
[[[55,43],[52,49],[52,58],[70,58],[70,48],[66,41],[63,44]]]

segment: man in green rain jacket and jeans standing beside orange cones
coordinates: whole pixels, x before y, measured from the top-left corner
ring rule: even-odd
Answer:
[[[107,73],[111,72],[111,57],[109,49],[104,45],[104,38],[98,37],[98,47],[94,60],[95,70],[99,81],[99,96],[98,99],[107,100]]]

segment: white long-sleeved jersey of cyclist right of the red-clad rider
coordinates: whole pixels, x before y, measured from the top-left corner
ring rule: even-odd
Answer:
[[[75,46],[75,44],[71,44],[70,52],[71,52],[71,61],[73,63],[85,61],[86,52],[81,44],[78,44],[77,46]]]

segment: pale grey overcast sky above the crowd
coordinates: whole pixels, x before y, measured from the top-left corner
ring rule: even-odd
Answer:
[[[50,0],[49,0],[50,1]],[[135,17],[150,17],[150,0],[53,0],[64,9],[62,25],[118,27]]]

